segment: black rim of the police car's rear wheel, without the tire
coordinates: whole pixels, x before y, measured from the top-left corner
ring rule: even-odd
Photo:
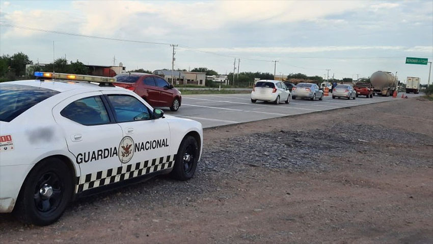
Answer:
[[[36,183],[33,200],[39,212],[56,210],[63,199],[63,184],[53,172],[43,174]]]

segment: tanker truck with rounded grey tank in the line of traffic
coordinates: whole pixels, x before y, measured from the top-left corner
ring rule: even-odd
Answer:
[[[373,92],[383,96],[389,96],[397,89],[397,79],[391,72],[376,71],[370,77]]]

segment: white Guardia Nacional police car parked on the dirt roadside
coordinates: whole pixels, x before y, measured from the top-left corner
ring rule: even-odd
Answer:
[[[113,86],[115,78],[35,76],[0,83],[0,212],[48,225],[77,196],[158,174],[194,175],[197,121],[164,116]]]

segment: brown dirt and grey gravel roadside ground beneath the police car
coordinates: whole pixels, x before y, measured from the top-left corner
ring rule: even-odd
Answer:
[[[433,243],[433,102],[406,99],[204,131],[196,176],[0,215],[0,243]],[[256,159],[256,160],[254,160]]]

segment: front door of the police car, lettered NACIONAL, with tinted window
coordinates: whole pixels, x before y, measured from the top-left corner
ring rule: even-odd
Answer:
[[[167,119],[153,119],[153,110],[131,92],[103,91],[123,131],[119,157],[125,178],[142,176],[173,166]]]

